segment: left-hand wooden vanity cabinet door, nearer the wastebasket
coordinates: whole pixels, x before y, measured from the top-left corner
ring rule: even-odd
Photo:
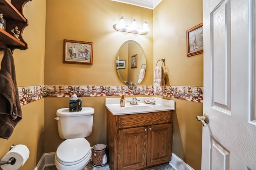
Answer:
[[[118,131],[118,170],[138,170],[146,167],[147,132],[147,127]]]

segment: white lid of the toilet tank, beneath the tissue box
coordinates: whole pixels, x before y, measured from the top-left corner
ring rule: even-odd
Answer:
[[[59,117],[70,117],[92,115],[93,113],[94,108],[92,107],[82,107],[81,111],[69,111],[69,108],[61,108],[57,110],[56,115]]]

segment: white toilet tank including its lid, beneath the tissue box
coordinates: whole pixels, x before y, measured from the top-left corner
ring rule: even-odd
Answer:
[[[61,139],[88,137],[92,133],[94,109],[82,107],[81,111],[69,111],[69,108],[58,109],[55,119]]]

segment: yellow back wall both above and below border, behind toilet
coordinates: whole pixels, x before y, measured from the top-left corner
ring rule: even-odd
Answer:
[[[124,17],[127,25],[133,18],[139,27],[144,20],[153,29],[152,10],[110,0],[48,0],[46,3],[46,85],[121,85],[116,73],[116,53],[128,40],[137,41],[145,51],[148,70],[152,70],[153,32],[138,35],[116,31],[113,25]],[[93,43],[93,65],[63,64],[63,39]],[[143,80],[152,84],[152,72]],[[138,81],[138,80],[136,80]],[[69,107],[69,98],[45,98],[45,152],[55,152],[63,141],[58,136],[57,109]],[[93,107],[90,145],[106,144],[106,109],[104,97],[84,97],[82,106]]]

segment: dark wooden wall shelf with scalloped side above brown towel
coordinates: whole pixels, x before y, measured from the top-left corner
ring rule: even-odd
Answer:
[[[27,49],[28,45],[22,37],[23,29],[28,25],[28,20],[23,16],[23,7],[30,0],[0,0],[0,13],[3,14],[5,19],[5,29],[0,29],[0,49],[10,48],[13,52],[14,49]],[[18,26],[20,35],[18,40],[13,36],[11,30],[14,26]]]

